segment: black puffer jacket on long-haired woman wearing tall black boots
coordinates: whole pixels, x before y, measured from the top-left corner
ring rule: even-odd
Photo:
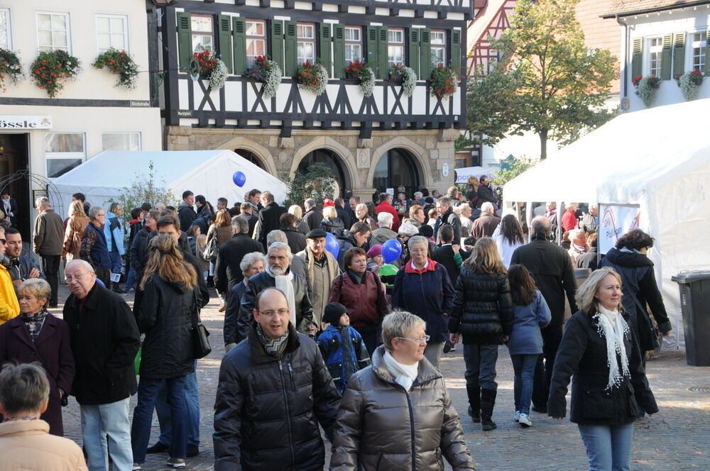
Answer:
[[[488,275],[466,267],[454,288],[449,332],[461,333],[464,343],[503,343],[513,330],[513,301],[508,276]]]

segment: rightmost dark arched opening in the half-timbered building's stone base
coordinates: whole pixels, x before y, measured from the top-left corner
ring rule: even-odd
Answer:
[[[408,198],[420,189],[421,173],[417,167],[415,158],[405,149],[390,149],[380,157],[375,167],[372,179],[372,186],[377,189],[377,193],[385,192],[388,188],[393,188],[395,198],[399,187],[405,188]],[[377,194],[373,195],[377,200]]]

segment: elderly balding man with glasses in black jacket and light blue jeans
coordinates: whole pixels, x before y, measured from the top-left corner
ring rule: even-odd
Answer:
[[[129,305],[97,283],[88,262],[69,262],[65,278],[72,294],[63,314],[76,362],[71,394],[81,409],[89,469],[104,469],[110,440],[114,468],[129,470],[133,465],[129,401],[138,389],[133,360],[141,334]]]

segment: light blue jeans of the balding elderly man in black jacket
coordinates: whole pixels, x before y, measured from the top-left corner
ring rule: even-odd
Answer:
[[[127,397],[111,404],[80,406],[82,437],[89,471],[109,471],[108,451],[114,471],[131,471],[131,422]]]

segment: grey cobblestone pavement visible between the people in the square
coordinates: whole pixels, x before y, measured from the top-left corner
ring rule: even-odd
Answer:
[[[61,287],[60,299],[67,290]],[[129,300],[132,297],[126,296]],[[217,389],[219,362],[224,355],[222,313],[217,301],[204,309],[202,321],[212,334],[214,349],[199,361],[200,455],[187,460],[187,469],[212,470],[212,406]],[[60,304],[60,308],[62,305]],[[53,311],[60,311],[54,310]],[[462,423],[471,453],[479,471],[503,470],[586,470],[584,447],[577,426],[569,421],[553,421],[532,414],[532,428],[520,428],[513,421],[513,367],[508,350],[501,348],[498,358],[498,403],[493,419],[495,431],[483,433],[479,424],[466,416],[466,386],[461,346],[442,358],[442,372],[452,394],[454,406],[463,414]],[[634,471],[710,470],[710,367],[689,367],[683,352],[662,352],[648,362],[648,378],[655,392],[660,413],[636,423],[633,446]],[[135,405],[136,397],[132,399]],[[64,409],[67,437],[81,443],[79,407],[71,398]],[[154,417],[151,444],[158,437]],[[166,455],[148,455],[143,470],[168,469]],[[326,459],[326,463],[329,458]],[[327,468],[326,468],[327,469]],[[447,469],[450,469],[447,467]],[[275,471],[275,470],[273,470]]]

